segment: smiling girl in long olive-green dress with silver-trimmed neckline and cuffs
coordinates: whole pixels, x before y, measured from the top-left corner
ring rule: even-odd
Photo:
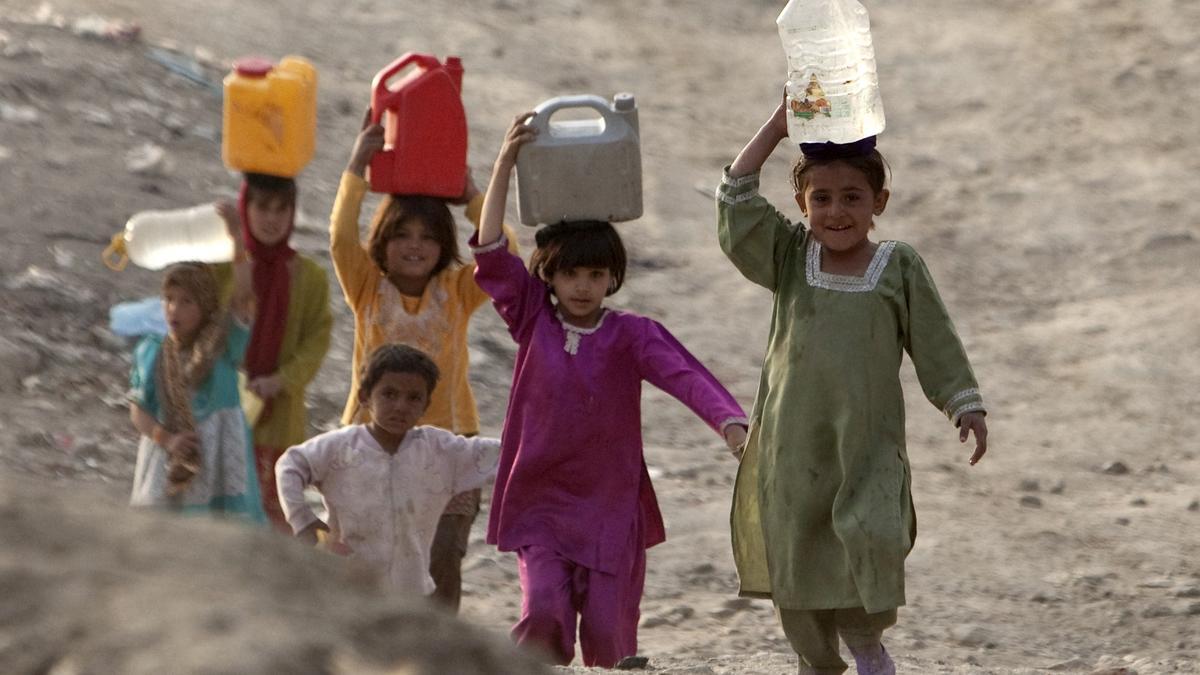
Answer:
[[[731,165],[716,193],[721,249],[774,294],[769,344],[734,489],[742,595],[772,598],[800,673],[895,673],[881,644],[905,604],[917,533],[899,369],[986,452],[971,364],[925,263],[901,241],[872,241],[887,207],[875,138],[803,145],[792,186],[808,227],[758,195],[758,172],[787,137],[785,109]]]

